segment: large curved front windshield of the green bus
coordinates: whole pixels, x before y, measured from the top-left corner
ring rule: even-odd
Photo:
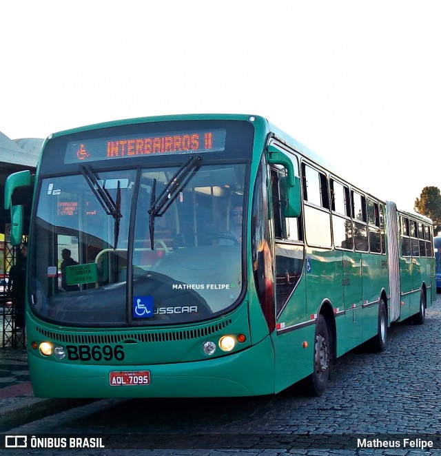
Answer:
[[[232,307],[243,287],[245,164],[201,160],[178,187],[177,172],[92,164],[41,180],[34,313],[67,326],[121,327],[193,322]],[[152,217],[155,198],[171,187]]]

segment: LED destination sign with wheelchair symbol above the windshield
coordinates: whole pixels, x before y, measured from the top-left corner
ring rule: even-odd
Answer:
[[[85,163],[148,155],[201,154],[225,150],[225,129],[110,136],[71,141],[64,163]]]

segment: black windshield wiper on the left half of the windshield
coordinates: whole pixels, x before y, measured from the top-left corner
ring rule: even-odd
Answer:
[[[96,178],[94,172],[90,165],[80,165],[81,174],[83,174],[85,181],[88,183],[90,189],[95,195],[96,199],[103,207],[105,214],[107,216],[112,216],[114,218],[114,249],[118,244],[119,236],[119,219],[122,218],[121,214],[121,185],[118,180],[118,187],[116,188],[116,203],[114,202],[109,191],[105,186],[101,187],[98,179]]]

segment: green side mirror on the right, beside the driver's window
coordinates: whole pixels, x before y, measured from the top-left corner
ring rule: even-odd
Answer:
[[[270,165],[282,165],[287,170],[287,178],[285,179],[286,200],[281,202],[283,204],[283,215],[285,217],[300,216],[300,178],[296,176],[291,160],[274,145],[269,145],[268,163]]]

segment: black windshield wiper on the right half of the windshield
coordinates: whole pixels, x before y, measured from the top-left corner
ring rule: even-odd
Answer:
[[[201,166],[201,156],[191,156],[181,167],[176,171],[161,191],[161,194],[156,198],[156,179],[153,180],[152,196],[150,198],[150,209],[147,211],[149,217],[150,230],[150,249],[154,250],[154,219],[162,217],[167,209],[172,205],[181,190],[189,183],[194,173]]]

